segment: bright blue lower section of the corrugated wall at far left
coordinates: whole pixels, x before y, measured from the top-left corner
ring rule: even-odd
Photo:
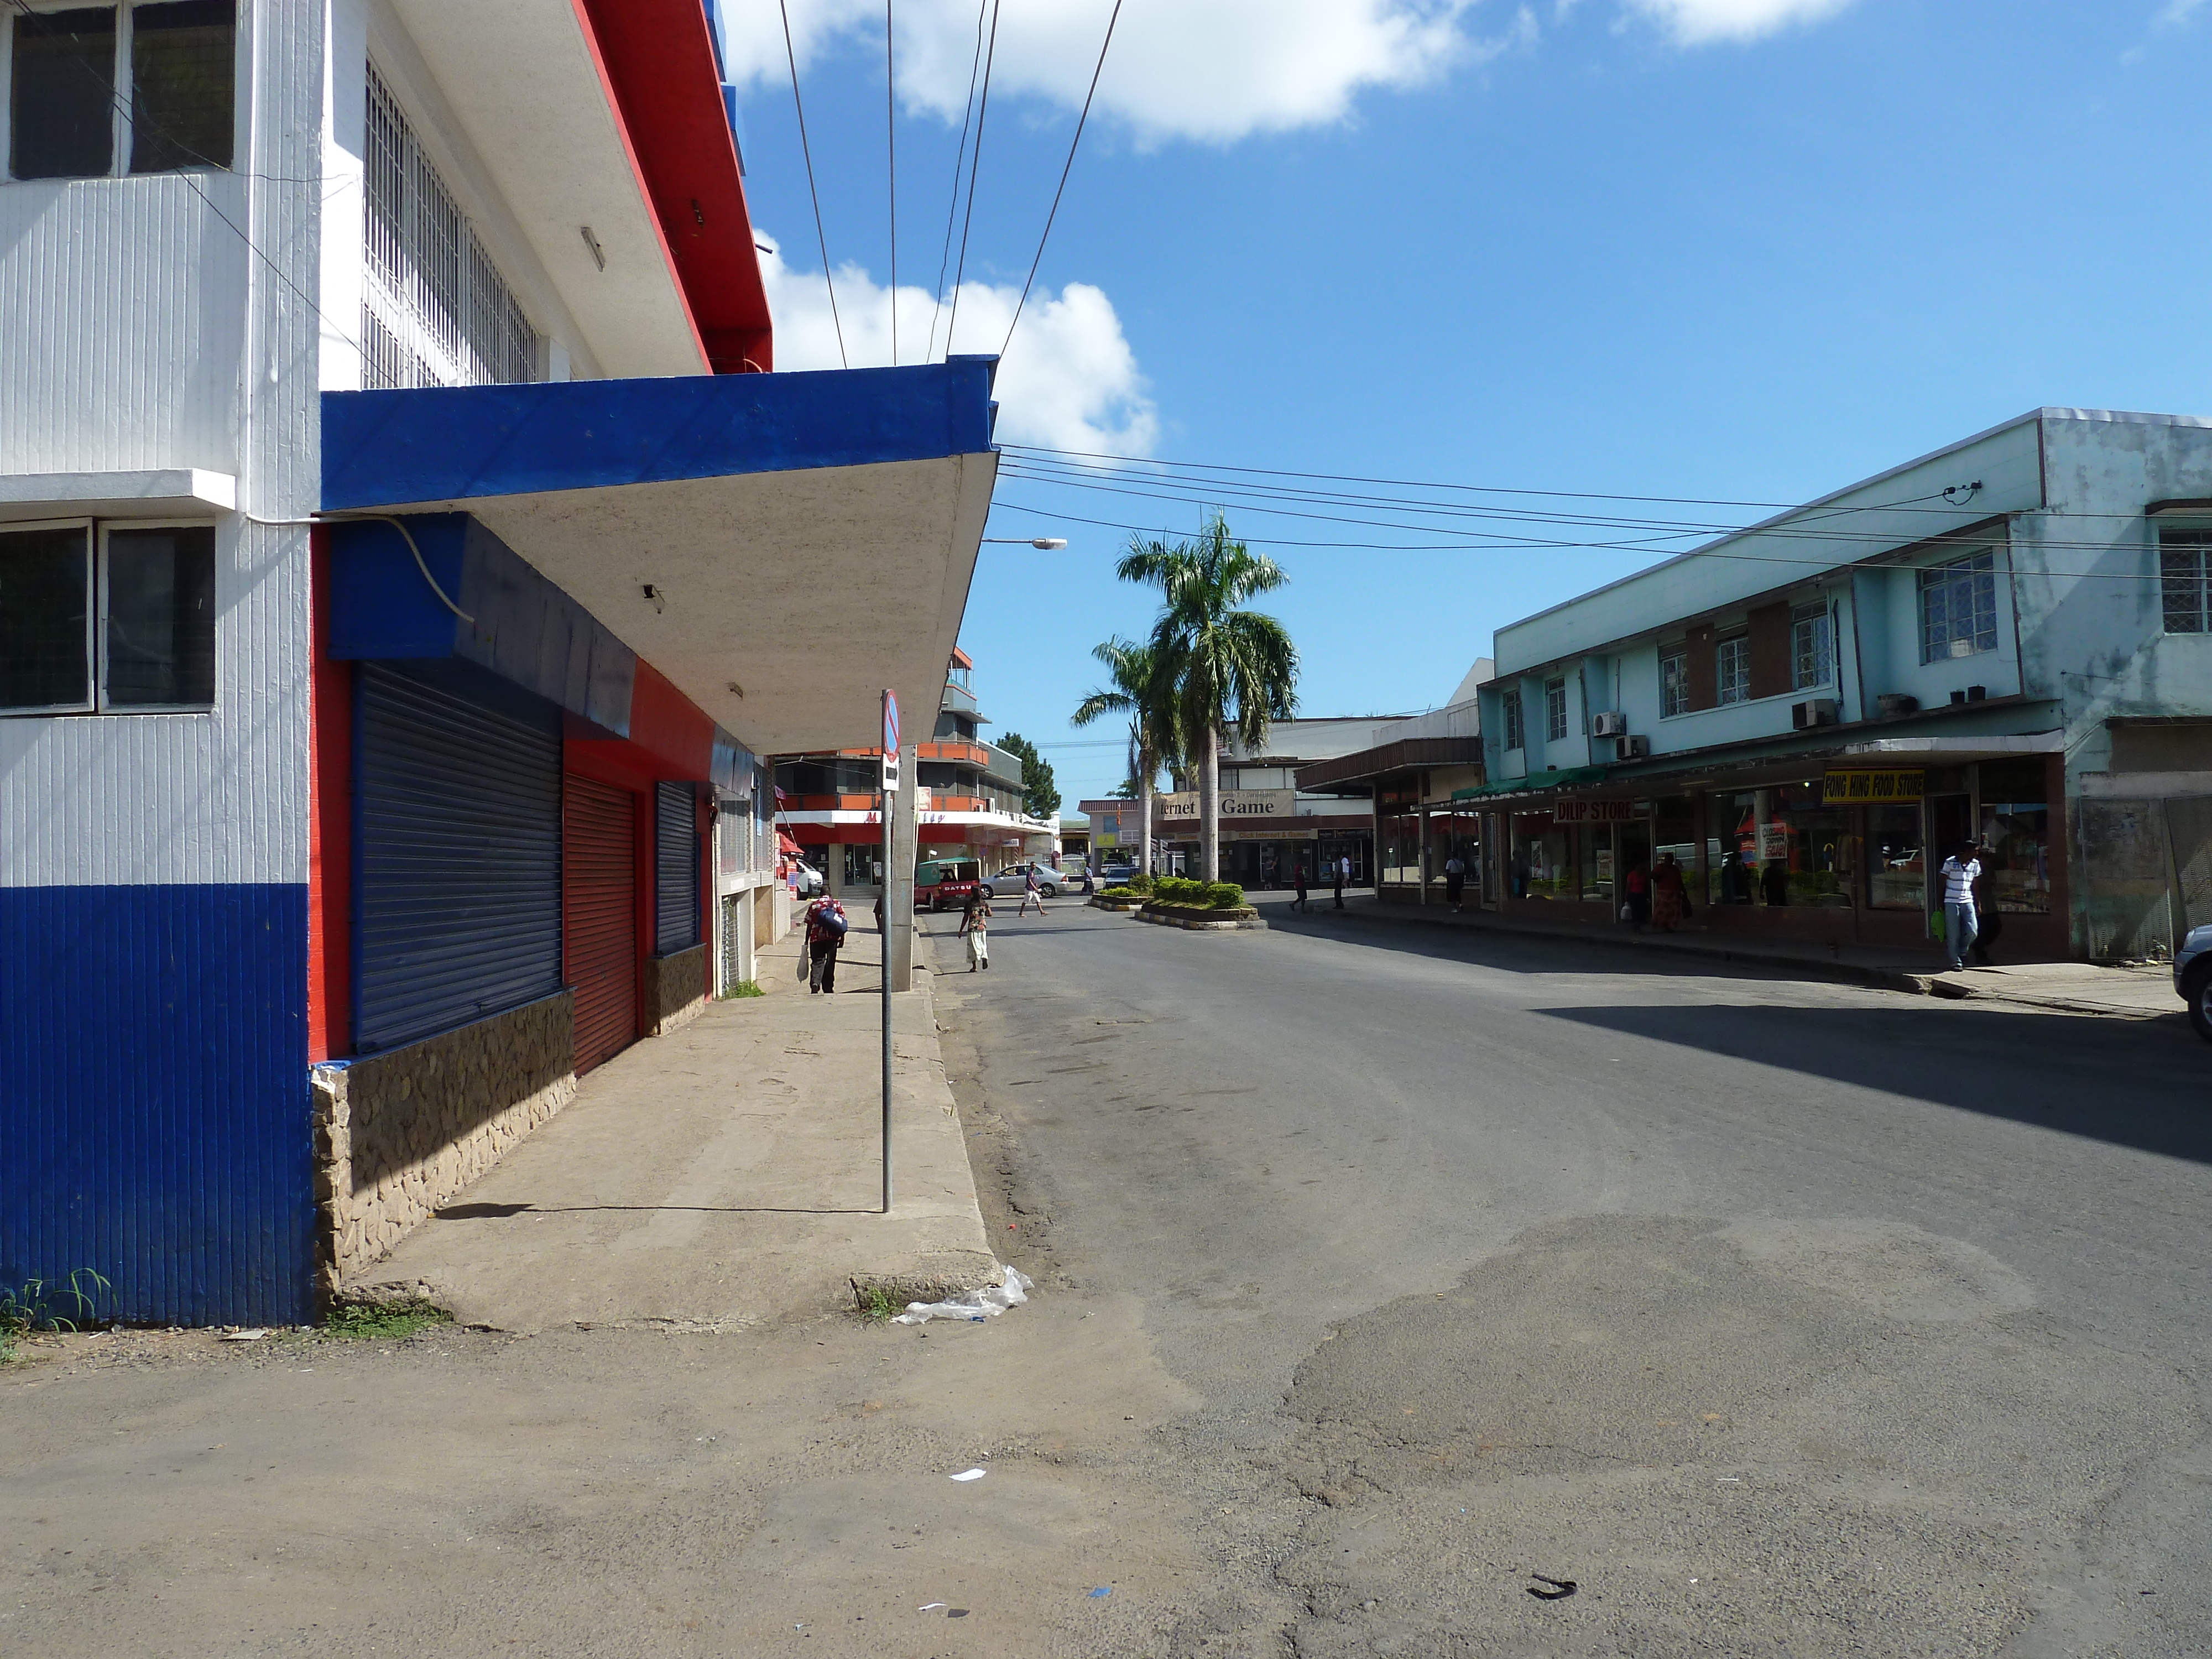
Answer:
[[[0,889],[0,1281],[312,1316],[307,889]]]

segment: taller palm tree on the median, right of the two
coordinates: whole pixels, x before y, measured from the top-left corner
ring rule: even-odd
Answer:
[[[1263,553],[1230,538],[1228,520],[1210,513],[1197,542],[1130,538],[1115,566],[1124,582],[1161,591],[1152,653],[1175,686],[1186,745],[1199,759],[1199,863],[1221,880],[1221,739],[1234,732],[1248,754],[1267,743],[1267,723],[1298,706],[1298,648],[1270,615],[1239,611],[1256,593],[1290,577]]]

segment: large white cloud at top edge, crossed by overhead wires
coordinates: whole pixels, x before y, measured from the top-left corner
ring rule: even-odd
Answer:
[[[1367,86],[1422,86],[1526,38],[1517,13],[1498,40],[1460,24],[1480,0],[1137,0],[1121,7],[1097,113],[1144,144],[1228,144],[1252,133],[1340,122]],[[1079,108],[1113,0],[1004,0],[991,71],[1006,93]],[[790,80],[774,0],[726,7],[728,69],[739,84]],[[792,0],[799,66],[843,38],[880,46],[876,0]],[[975,0],[898,9],[898,82],[907,108],[958,122],[975,62]],[[878,58],[880,64],[880,58]]]

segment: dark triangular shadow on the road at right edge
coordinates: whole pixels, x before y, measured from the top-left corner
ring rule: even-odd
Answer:
[[[2174,1020],[1991,1011],[1927,1002],[1535,1009],[1553,1020],[1924,1099],[2139,1152],[2212,1164],[2212,1048]]]

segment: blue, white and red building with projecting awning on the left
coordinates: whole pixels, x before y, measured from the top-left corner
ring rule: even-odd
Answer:
[[[774,374],[710,7],[0,9],[0,1281],[307,1318],[936,703],[991,363]]]

